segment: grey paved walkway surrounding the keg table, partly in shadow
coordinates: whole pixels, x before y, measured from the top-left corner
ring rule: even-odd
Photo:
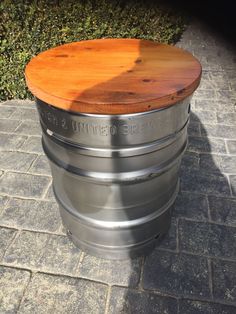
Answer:
[[[234,51],[197,23],[179,46],[200,59],[203,78],[172,227],[146,259],[109,262],[71,244],[34,105],[1,103],[0,313],[236,312]]]

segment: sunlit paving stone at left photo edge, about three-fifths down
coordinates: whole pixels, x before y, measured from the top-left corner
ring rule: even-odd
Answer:
[[[49,182],[49,177],[7,172],[0,178],[0,193],[38,198],[43,196]]]

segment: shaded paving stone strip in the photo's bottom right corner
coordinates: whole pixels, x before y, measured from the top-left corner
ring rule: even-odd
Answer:
[[[180,314],[235,314],[233,305],[220,303],[202,302],[193,300],[180,300]]]

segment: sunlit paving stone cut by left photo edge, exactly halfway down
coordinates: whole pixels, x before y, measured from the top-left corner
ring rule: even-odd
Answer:
[[[0,169],[26,172],[37,155],[21,152],[2,151],[0,154]]]

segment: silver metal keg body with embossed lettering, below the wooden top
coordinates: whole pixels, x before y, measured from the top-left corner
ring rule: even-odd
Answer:
[[[81,114],[37,99],[53,189],[73,242],[108,259],[151,250],[168,231],[190,98],[135,114]]]

